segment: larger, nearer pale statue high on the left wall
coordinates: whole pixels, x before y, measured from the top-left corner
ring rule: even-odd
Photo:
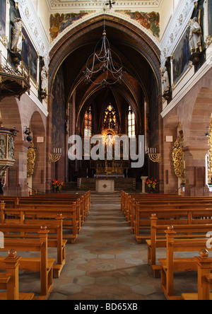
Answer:
[[[23,21],[21,18],[14,18],[11,22],[13,24],[11,52],[20,53],[22,51],[22,42],[25,39],[22,33]]]

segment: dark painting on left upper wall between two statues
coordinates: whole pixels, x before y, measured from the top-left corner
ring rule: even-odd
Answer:
[[[23,36],[25,40],[23,40],[23,48],[21,52],[21,57],[23,57],[23,64],[25,68],[28,70],[30,67],[30,76],[37,82],[37,52],[33,47],[33,43],[30,40],[30,37],[26,33],[25,29],[23,29]]]

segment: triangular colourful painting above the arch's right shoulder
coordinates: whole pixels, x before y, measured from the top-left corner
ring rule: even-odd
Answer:
[[[151,30],[155,37],[160,37],[160,13],[126,12],[133,20],[138,21],[144,28]]]

